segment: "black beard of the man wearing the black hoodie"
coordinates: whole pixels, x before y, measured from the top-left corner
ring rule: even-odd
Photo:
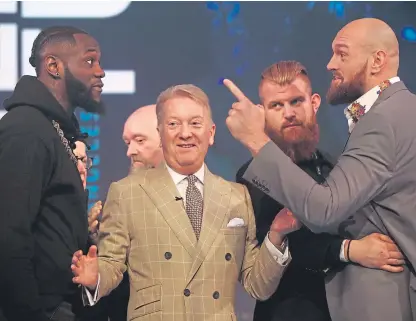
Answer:
[[[88,88],[65,68],[65,85],[68,99],[75,107],[81,107],[86,112],[103,115],[105,105],[102,101],[92,98],[92,87]]]

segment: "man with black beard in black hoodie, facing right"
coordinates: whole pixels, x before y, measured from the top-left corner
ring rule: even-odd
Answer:
[[[35,39],[0,121],[0,316],[78,320],[69,268],[87,248],[86,194],[73,153],[74,110],[104,111],[100,47],[86,32],[51,27]]]

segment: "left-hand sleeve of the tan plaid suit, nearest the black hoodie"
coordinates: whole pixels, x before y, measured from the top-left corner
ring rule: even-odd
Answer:
[[[98,236],[100,286],[97,300],[108,295],[120,284],[127,269],[130,236],[128,212],[122,198],[123,193],[118,183],[112,183],[104,204]]]

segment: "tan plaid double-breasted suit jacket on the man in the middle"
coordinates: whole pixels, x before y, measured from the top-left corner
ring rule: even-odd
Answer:
[[[258,246],[245,186],[205,168],[204,210],[197,242],[164,165],[113,183],[100,225],[98,298],[128,271],[128,320],[236,320],[240,281],[255,299],[276,290],[285,266]],[[243,227],[227,227],[235,217]]]

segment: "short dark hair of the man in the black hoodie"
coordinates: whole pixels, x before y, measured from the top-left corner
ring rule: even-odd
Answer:
[[[75,45],[75,34],[88,34],[86,31],[71,26],[53,26],[42,30],[32,46],[32,53],[29,63],[35,68],[36,74],[39,74],[40,62],[42,60],[43,50],[50,44],[69,43]]]

